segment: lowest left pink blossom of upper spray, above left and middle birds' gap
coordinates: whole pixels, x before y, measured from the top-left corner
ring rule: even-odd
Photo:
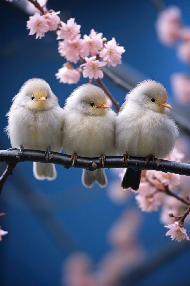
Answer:
[[[61,83],[78,83],[80,80],[80,72],[76,69],[68,69],[68,67],[62,67],[58,69],[58,72],[55,74],[56,78],[59,79]]]

